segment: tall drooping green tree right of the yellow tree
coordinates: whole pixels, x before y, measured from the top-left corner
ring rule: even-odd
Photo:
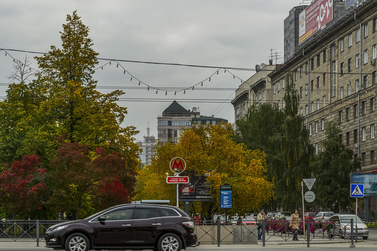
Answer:
[[[276,196],[271,207],[291,210],[302,203],[300,182],[310,177],[313,146],[304,118],[298,114],[293,76],[287,75],[285,82],[284,109],[267,103],[252,105],[247,116],[236,122],[234,140],[266,153],[268,177]]]

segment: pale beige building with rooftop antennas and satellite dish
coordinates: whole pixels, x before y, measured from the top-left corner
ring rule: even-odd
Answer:
[[[260,70],[258,69],[253,76],[239,85],[236,90],[236,97],[231,102],[234,107],[235,122],[247,114],[248,108],[254,102],[272,102],[270,87],[267,89],[266,85],[270,82],[268,81],[268,74],[275,69],[275,65],[272,65],[272,59],[270,59],[269,65],[261,64],[260,66],[257,65],[256,68],[259,67]],[[277,88],[280,89],[280,83]],[[284,82],[281,83],[281,88],[284,88]],[[237,129],[237,125],[235,125],[235,129]]]

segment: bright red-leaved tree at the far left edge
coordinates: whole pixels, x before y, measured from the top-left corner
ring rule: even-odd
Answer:
[[[22,161],[14,161],[12,166],[0,174],[0,207],[9,218],[23,217],[34,209],[41,209],[48,189],[44,178],[46,169],[39,168],[40,157],[25,155]]]

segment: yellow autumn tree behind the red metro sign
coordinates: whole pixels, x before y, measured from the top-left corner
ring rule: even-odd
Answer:
[[[230,124],[195,125],[184,129],[176,145],[159,143],[152,163],[136,177],[138,193],[135,199],[170,199],[174,205],[176,186],[166,184],[166,173],[170,172],[170,160],[181,157],[186,162],[186,170],[208,175],[207,182],[211,184],[213,199],[216,199],[216,202],[207,203],[211,208],[204,209],[205,203],[196,203],[193,204],[196,208],[190,206],[190,211],[202,210],[207,217],[219,211],[220,186],[225,183],[233,186],[233,208],[229,214],[257,210],[274,197],[273,185],[265,178],[265,154],[259,150],[250,151],[244,144],[236,144],[232,135]]]

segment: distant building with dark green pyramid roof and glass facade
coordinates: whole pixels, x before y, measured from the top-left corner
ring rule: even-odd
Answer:
[[[216,118],[214,116],[201,116],[199,108],[193,107],[192,110],[186,110],[175,100],[169,105],[162,115],[157,117],[157,135],[162,144],[167,141],[176,143],[183,131],[182,126],[199,125],[216,125],[221,122],[228,123],[228,120]]]

